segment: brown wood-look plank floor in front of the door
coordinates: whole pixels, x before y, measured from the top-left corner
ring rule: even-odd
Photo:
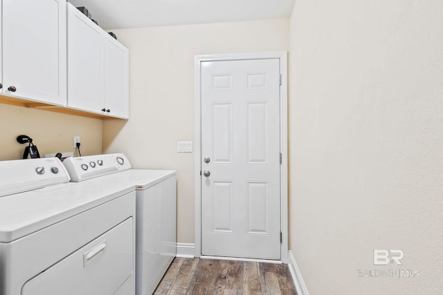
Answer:
[[[175,258],[154,294],[297,294],[287,265]]]

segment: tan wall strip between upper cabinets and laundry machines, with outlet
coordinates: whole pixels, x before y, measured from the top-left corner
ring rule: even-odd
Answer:
[[[81,139],[82,155],[102,153],[102,120],[42,111],[34,108],[0,104],[0,160],[17,160],[26,144],[18,135],[33,138],[39,153],[75,152],[73,136]]]

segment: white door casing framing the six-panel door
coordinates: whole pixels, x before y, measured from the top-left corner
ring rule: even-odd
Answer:
[[[195,56],[195,257],[201,257],[201,62],[239,59],[280,59],[280,257],[288,263],[288,149],[287,149],[287,52],[240,53]]]

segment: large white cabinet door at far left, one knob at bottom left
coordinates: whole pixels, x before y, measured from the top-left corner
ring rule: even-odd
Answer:
[[[3,93],[66,105],[65,0],[3,0]]]

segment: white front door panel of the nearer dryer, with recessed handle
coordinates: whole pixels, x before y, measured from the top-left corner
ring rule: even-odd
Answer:
[[[109,295],[132,275],[133,220],[128,218],[28,280],[22,295]]]

